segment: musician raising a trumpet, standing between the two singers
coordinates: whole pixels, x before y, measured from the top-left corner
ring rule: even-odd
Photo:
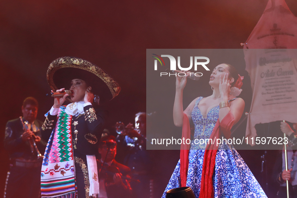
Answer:
[[[146,150],[146,129],[149,119],[145,112],[137,113],[135,115],[135,129],[130,123],[126,126],[125,131],[117,137],[121,149],[126,148],[124,164],[131,169],[132,178],[140,180],[140,183],[131,182],[132,198],[151,198],[154,196],[152,160],[154,153],[151,150]]]

